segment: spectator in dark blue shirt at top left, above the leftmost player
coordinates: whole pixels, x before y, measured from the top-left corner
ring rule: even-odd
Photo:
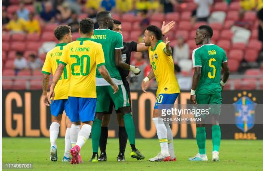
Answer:
[[[56,17],[56,11],[53,9],[52,3],[46,2],[45,5],[42,5],[42,8],[43,10],[40,13],[40,17],[46,22],[54,22]]]

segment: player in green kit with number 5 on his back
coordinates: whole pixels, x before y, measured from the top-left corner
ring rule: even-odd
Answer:
[[[195,43],[202,45],[193,50],[193,83],[191,90],[191,104],[221,104],[221,91],[229,77],[229,69],[225,51],[211,43],[213,30],[208,25],[200,26],[196,31]],[[220,82],[221,67],[223,69],[223,79]],[[190,161],[207,161],[206,156],[206,130],[205,124],[196,124],[196,141],[199,153]],[[219,161],[219,146],[221,131],[218,117],[212,124],[213,152],[212,161]]]

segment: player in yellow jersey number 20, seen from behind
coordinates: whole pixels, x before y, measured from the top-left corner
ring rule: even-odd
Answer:
[[[79,33],[81,38],[67,44],[64,47],[60,64],[54,74],[53,81],[49,92],[50,98],[54,98],[54,88],[61,77],[65,66],[70,68],[69,81],[69,111],[70,120],[73,124],[82,122],[82,127],[78,134],[76,145],[71,149],[71,163],[78,164],[78,156],[81,147],[89,138],[91,126],[95,116],[96,109],[96,69],[102,77],[111,85],[114,94],[118,91],[118,86],[110,77],[104,60],[102,45],[91,41],[93,35],[93,20],[84,18],[80,22]]]

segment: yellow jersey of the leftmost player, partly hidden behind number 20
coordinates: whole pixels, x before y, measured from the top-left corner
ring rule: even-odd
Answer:
[[[50,75],[51,71],[55,74],[59,60],[64,52],[64,48],[67,43],[57,44],[55,48],[50,50],[46,54],[45,63],[42,68],[42,73]],[[55,100],[68,99],[68,87],[69,87],[70,72],[69,66],[67,65],[61,75],[57,85],[55,87]]]

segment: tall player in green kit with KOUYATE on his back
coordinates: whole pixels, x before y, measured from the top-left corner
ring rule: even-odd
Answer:
[[[90,161],[98,161],[102,117],[104,114],[108,114],[111,101],[114,103],[115,109],[119,109],[122,115],[121,117],[124,119],[125,129],[132,148],[130,155],[138,160],[144,159],[144,156],[135,147],[135,126],[129,108],[129,98],[117,67],[131,70],[136,75],[140,73],[140,70],[135,66],[123,62],[121,56],[123,37],[120,33],[108,29],[113,26],[111,13],[107,11],[98,13],[97,22],[99,24],[99,29],[94,30],[91,40],[102,44],[106,68],[115,84],[119,86],[120,91],[114,94],[110,89],[111,86],[105,82],[98,72],[96,73],[97,106],[91,130],[93,155]]]

